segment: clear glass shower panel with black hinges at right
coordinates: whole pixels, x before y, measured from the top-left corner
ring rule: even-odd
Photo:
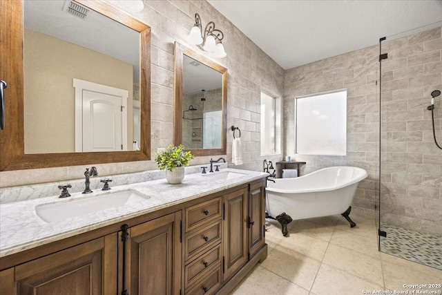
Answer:
[[[380,42],[380,250],[442,269],[441,23]],[[434,102],[432,111],[428,109]],[[439,144],[440,145],[440,144]],[[385,234],[385,236],[383,236]]]

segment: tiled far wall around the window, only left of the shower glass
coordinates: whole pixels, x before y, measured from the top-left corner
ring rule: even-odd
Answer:
[[[375,216],[378,179],[379,48],[371,46],[344,55],[291,68],[285,73],[284,126],[285,153],[307,164],[301,173],[328,166],[358,166],[369,176],[358,187],[352,212]],[[347,155],[321,156],[295,154],[295,97],[347,89]]]

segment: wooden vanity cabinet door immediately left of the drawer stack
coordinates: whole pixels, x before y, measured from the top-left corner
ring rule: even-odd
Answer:
[[[180,294],[180,222],[178,211],[128,229],[124,280],[128,294]]]

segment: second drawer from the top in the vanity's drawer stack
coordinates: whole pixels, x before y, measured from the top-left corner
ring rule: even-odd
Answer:
[[[211,225],[186,234],[184,260],[187,261],[196,254],[202,253],[202,251],[218,244],[221,240],[221,232],[221,219],[219,219]]]

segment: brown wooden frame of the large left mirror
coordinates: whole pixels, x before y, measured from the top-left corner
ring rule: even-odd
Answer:
[[[141,151],[24,153],[23,2],[1,0],[0,79],[8,88],[5,90],[5,128],[0,130],[0,171],[151,159],[151,28],[102,1],[75,1],[140,32]]]

